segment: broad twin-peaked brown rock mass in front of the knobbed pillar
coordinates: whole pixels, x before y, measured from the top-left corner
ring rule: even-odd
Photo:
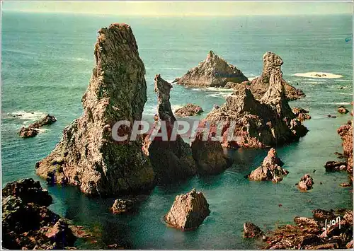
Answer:
[[[210,124],[225,123],[223,146],[279,146],[297,141],[308,132],[292,112],[278,73],[270,75],[268,91],[260,100],[253,97],[248,87],[242,86],[205,119]]]

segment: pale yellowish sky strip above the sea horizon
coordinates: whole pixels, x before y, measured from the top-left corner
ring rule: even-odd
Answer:
[[[3,1],[2,11],[117,16],[290,16],[350,14],[353,1]]]

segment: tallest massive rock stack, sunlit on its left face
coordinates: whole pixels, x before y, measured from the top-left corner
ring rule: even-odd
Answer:
[[[114,141],[113,125],[141,120],[147,100],[145,69],[129,25],[114,23],[98,31],[96,66],[82,97],[84,114],[63,131],[36,173],[55,183],[69,183],[86,194],[117,194],[148,189],[154,182],[142,141]],[[118,135],[131,127],[120,127]]]

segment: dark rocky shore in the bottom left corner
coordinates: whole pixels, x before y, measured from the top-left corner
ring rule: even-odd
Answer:
[[[11,182],[2,191],[2,247],[10,250],[67,249],[76,236],[47,206],[52,197],[39,182]]]

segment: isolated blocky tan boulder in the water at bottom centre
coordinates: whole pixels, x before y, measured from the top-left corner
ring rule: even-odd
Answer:
[[[193,230],[198,228],[209,214],[209,204],[202,192],[192,189],[187,194],[176,196],[169,213],[164,218],[166,223],[175,228]]]

